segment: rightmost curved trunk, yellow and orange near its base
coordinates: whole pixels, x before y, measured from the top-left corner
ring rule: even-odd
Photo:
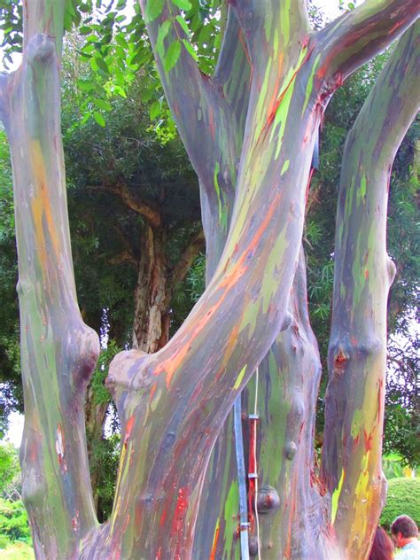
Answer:
[[[385,504],[381,445],[386,302],[395,266],[386,253],[393,159],[418,111],[420,24],[401,38],[345,146],[338,194],[329,384],[321,478],[346,557],[361,557]],[[350,531],[349,531],[350,530]]]

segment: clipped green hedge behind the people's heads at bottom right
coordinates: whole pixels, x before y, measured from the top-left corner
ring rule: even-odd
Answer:
[[[420,478],[388,480],[388,494],[379,524],[389,530],[395,517],[407,515],[420,525]]]

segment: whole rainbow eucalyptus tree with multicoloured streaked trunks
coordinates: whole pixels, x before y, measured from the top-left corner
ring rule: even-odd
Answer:
[[[227,3],[211,77],[198,70],[179,10],[190,3],[142,3],[198,174],[207,287],[159,352],[132,350],[113,360],[107,384],[121,419],[121,460],[103,525],[93,507],[83,416],[98,341],[77,307],[60,140],[65,4],[24,3],[22,64],[1,82],[19,252],[23,496],[36,556],[238,557],[244,527],[229,428],[206,486],[205,473],[229,409],[265,358],[261,433],[255,423],[250,430],[259,440],[250,468],[256,461],[260,478],[260,494],[255,482],[248,485],[251,554],[365,558],[384,488],[385,307],[393,276],[386,185],[416,110],[409,92],[417,27],[401,39],[346,144],[321,471],[312,449],[320,366],[301,239],[324,107],[346,76],[413,24],[417,3],[371,0],[317,33],[303,1]]]

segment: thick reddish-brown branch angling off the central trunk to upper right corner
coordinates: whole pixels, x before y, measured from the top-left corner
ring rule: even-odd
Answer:
[[[367,0],[315,35],[318,74],[335,89],[369,58],[393,42],[418,17],[417,0]]]

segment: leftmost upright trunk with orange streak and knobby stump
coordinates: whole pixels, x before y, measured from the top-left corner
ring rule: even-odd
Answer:
[[[97,526],[84,394],[99,352],[77,307],[60,130],[64,2],[25,4],[19,69],[2,76],[12,153],[25,427],[22,496],[39,558],[77,556]]]

